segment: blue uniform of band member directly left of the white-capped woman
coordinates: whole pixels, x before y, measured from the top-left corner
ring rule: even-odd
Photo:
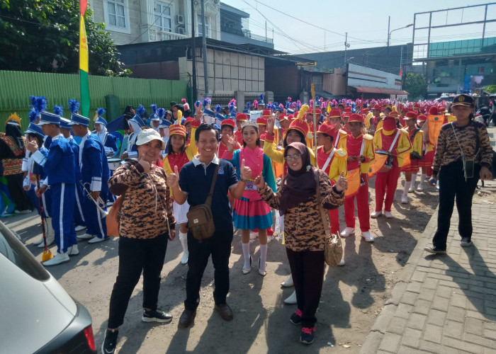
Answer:
[[[79,169],[81,171],[80,181],[86,190],[99,191],[100,197],[105,203],[108,195],[108,178],[110,178],[107,156],[100,139],[89,132],[79,144]],[[90,200],[91,195],[88,195],[86,190],[83,189],[84,197],[81,200],[86,222],[86,234],[97,236],[99,239],[106,239],[105,215],[101,215],[100,210]],[[101,207],[105,210],[106,205],[103,204]]]

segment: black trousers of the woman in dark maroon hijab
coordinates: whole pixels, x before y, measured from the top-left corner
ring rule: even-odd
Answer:
[[[292,251],[286,248],[291,275],[295,285],[298,309],[303,312],[303,327],[313,327],[317,319],[324,282],[324,251]]]

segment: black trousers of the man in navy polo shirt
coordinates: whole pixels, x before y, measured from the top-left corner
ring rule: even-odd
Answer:
[[[229,292],[229,257],[231,256],[232,232],[215,232],[210,239],[198,242],[188,232],[188,275],[186,278],[186,300],[184,307],[194,311],[200,303],[200,286],[203,272],[212,255],[215,289],[215,304],[225,304]]]

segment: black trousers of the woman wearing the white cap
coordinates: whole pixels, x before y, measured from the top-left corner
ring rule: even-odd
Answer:
[[[119,272],[111,295],[108,328],[124,323],[129,299],[143,272],[143,308],[157,309],[160,273],[164,266],[169,234],[154,239],[119,238]]]

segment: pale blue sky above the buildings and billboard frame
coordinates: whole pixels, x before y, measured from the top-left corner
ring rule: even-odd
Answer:
[[[274,28],[276,50],[293,54],[344,50],[346,32],[349,49],[385,46],[388,39],[388,16],[390,16],[390,30],[395,30],[413,23],[414,13],[489,4],[467,0],[373,2],[364,0],[222,0],[222,2],[249,13],[249,29],[254,34],[264,36],[267,21],[267,37],[272,38]],[[445,25],[460,21],[479,21],[483,17],[484,7],[468,8],[463,11],[435,13],[432,23]],[[496,4],[488,6],[487,18],[496,19]],[[419,24],[427,25],[428,21],[428,15],[417,16],[417,27]],[[483,25],[479,24],[440,28],[432,30],[431,37],[432,42],[480,38],[482,30]],[[496,37],[496,22],[487,24],[485,32],[486,37]],[[412,27],[395,30],[391,33],[390,45],[412,42],[412,34]],[[415,37],[427,40],[427,30],[417,30]]]

